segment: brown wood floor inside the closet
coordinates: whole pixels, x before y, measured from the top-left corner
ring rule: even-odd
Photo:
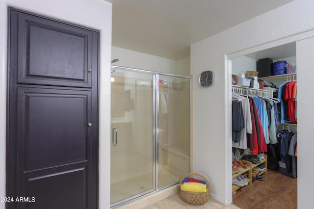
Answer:
[[[297,209],[297,179],[280,170],[268,169],[264,181],[254,180],[233,194],[233,204],[241,209]]]

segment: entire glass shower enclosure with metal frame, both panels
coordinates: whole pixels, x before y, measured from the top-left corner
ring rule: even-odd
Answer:
[[[112,66],[111,207],[189,172],[190,78]]]

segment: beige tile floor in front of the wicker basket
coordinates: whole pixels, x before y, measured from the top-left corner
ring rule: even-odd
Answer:
[[[204,205],[190,205],[185,203],[180,194],[174,194],[163,200],[158,201],[155,204],[148,205],[142,209],[240,209],[235,205],[225,206],[222,203],[210,198]]]

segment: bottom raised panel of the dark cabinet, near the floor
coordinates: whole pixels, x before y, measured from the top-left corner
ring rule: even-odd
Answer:
[[[26,179],[21,209],[87,209],[86,168]]]

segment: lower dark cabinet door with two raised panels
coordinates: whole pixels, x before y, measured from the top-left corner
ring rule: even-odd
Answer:
[[[91,91],[18,87],[17,104],[17,197],[35,199],[18,208],[91,208]]]

